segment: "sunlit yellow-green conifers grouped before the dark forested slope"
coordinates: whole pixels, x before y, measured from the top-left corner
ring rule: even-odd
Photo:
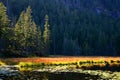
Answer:
[[[13,50],[12,52],[15,50],[17,50],[19,54],[37,52],[39,53],[38,55],[40,55],[43,47],[45,47],[44,49],[48,48],[50,36],[48,16],[46,15],[44,38],[42,38],[41,29],[33,21],[31,14],[32,10],[30,6],[28,6],[26,11],[21,12],[15,27],[10,28],[9,19],[6,15],[6,7],[3,3],[0,3],[0,37],[3,36],[7,48]],[[4,50],[4,53],[6,54],[6,50]],[[10,55],[12,55],[11,51],[10,54],[7,53],[5,56],[8,57]]]

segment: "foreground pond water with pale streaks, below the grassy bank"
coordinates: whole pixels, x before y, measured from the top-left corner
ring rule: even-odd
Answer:
[[[0,68],[0,80],[119,80],[120,72],[81,69],[35,69],[19,71]]]

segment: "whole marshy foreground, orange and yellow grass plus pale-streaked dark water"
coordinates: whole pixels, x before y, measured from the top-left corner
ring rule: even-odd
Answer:
[[[120,79],[119,58],[14,58],[1,59],[0,64],[3,80]]]

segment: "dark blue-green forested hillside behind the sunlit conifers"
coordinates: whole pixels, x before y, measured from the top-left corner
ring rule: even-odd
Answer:
[[[30,19],[33,21],[33,26],[37,28],[36,35],[33,35],[33,31],[31,35],[33,37],[37,37],[39,33],[39,36],[43,35],[43,37],[34,38],[37,40],[36,44],[40,42],[37,46],[31,45],[30,41],[34,40],[33,37],[26,38],[31,44],[26,44],[25,47],[21,44],[23,42],[18,43],[24,37],[18,39],[17,36],[16,39],[9,40],[1,37],[1,53],[5,49],[13,49],[20,51],[20,54],[36,53],[39,56],[43,54],[120,55],[120,0],[0,0],[0,2],[6,6],[6,14],[10,20],[9,28],[17,29],[16,26],[19,26],[22,19],[20,19],[21,12],[29,14],[28,6],[30,6],[32,11],[30,14],[32,19]],[[38,28],[41,31],[38,31]],[[45,34],[45,30],[48,34]],[[14,34],[12,30],[8,32]],[[13,34],[12,36],[15,36]],[[10,42],[7,45],[14,48],[8,48],[5,40]]]

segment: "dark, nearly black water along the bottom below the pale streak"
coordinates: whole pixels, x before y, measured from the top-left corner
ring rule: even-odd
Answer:
[[[36,72],[24,71],[19,75],[5,76],[0,75],[2,80],[99,80],[98,76],[91,76],[88,74],[73,73],[73,72]]]

